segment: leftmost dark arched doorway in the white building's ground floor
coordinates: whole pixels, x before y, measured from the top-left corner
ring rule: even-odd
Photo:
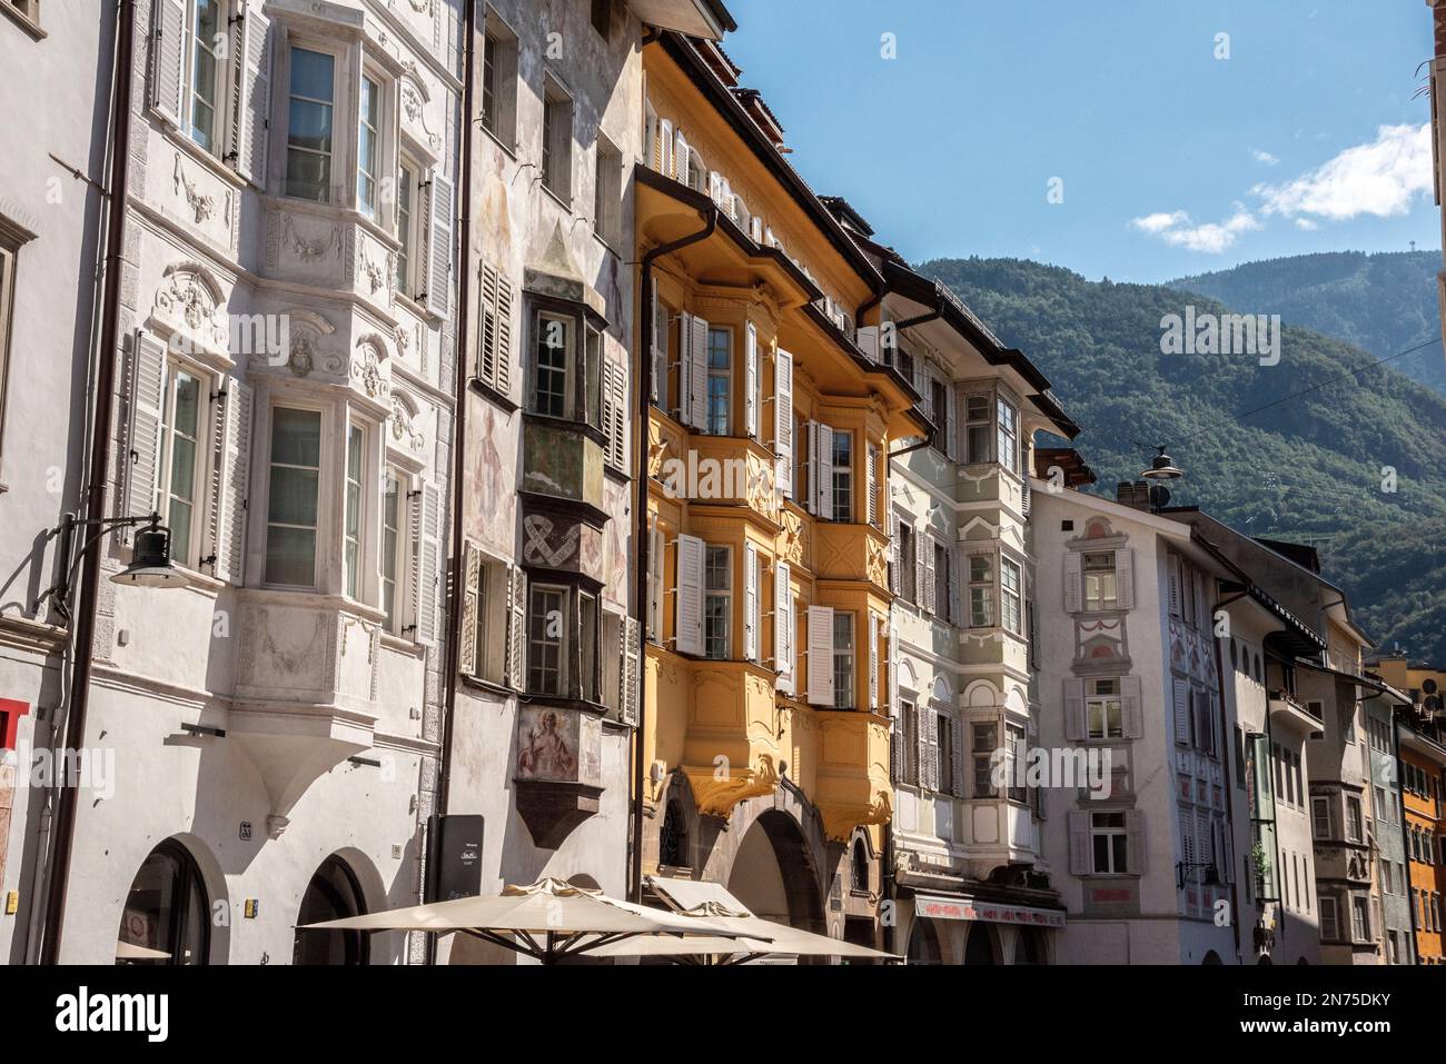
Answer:
[[[211,912],[201,870],[191,853],[174,838],[161,843],[142,863],[120,915],[117,963],[208,964]],[[139,947],[166,954],[137,957]]]

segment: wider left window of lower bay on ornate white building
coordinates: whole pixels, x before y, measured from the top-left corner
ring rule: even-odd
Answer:
[[[317,492],[321,477],[321,415],[272,411],[270,494],[266,513],[266,583],[317,584]]]

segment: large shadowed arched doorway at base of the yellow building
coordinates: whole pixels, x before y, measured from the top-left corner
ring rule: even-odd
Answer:
[[[787,812],[769,810],[749,825],[726,886],[756,917],[829,934],[808,843]]]

